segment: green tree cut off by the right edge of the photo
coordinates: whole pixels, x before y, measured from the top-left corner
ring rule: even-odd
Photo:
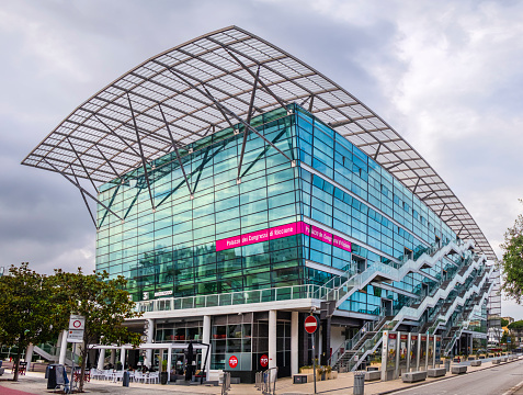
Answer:
[[[520,199],[520,202],[523,201]],[[500,267],[504,281],[501,289],[518,304],[523,302],[523,215],[518,215],[514,225],[504,234],[503,260]]]

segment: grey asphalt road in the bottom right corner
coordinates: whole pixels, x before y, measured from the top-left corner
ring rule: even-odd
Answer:
[[[523,361],[395,392],[401,395],[503,395],[523,382]]]

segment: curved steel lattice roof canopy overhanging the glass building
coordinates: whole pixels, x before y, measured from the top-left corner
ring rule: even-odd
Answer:
[[[173,145],[293,102],[336,128],[461,238],[474,238],[496,259],[459,199],[393,127],[314,68],[236,26],[194,38],[128,71],[78,106],[22,163],[86,178],[94,187],[94,181],[110,181],[170,153]],[[78,180],[69,181],[79,187]]]

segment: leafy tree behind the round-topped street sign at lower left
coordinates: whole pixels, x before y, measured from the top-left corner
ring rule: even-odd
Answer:
[[[81,373],[79,391],[83,391],[83,375],[89,347],[93,343],[140,343],[140,334],[130,332],[122,324],[126,318],[140,316],[135,303],[125,291],[127,280],[122,275],[109,280],[107,272],[83,274],[55,270],[54,281],[62,295],[67,295],[70,314],[86,317],[83,345],[80,347]]]

